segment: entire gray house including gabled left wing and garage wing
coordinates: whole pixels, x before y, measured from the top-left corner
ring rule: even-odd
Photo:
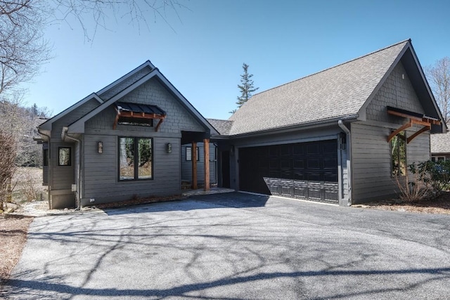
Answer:
[[[179,194],[182,181],[347,206],[392,197],[441,119],[406,40],[258,93],[228,120],[205,119],[148,61],[39,133],[53,208]]]

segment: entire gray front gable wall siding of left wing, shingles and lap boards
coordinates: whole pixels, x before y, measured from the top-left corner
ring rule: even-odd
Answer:
[[[181,193],[181,131],[204,131],[194,117],[156,79],[150,79],[127,96],[122,102],[158,105],[167,112],[158,132],[153,127],[117,125],[113,129],[113,105],[85,124],[82,165],[82,205],[129,200],[132,195],[150,197],[179,195]],[[120,181],[118,169],[119,137],[153,138],[153,179]],[[103,143],[98,153],[97,143]],[[167,143],[172,153],[166,152]],[[94,202],[91,202],[91,198]]]

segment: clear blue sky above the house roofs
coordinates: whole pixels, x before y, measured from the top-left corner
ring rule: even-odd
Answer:
[[[228,119],[243,63],[264,91],[405,39],[423,67],[450,56],[450,1],[179,2],[149,29],[111,15],[93,42],[75,21],[50,25],[54,58],[25,101],[56,115],[150,60],[203,116]]]

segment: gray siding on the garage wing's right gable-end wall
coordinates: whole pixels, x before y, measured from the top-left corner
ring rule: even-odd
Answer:
[[[366,108],[368,122],[352,123],[352,176],[354,203],[393,197],[398,192],[392,177],[390,143],[387,136],[406,121],[387,115],[387,106],[425,113],[411,81],[399,63]],[[406,131],[411,136],[420,127]],[[430,133],[406,145],[406,162],[430,159]]]

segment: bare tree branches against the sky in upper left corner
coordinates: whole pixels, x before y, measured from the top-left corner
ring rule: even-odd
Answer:
[[[159,17],[169,25],[167,13],[178,16],[181,7],[176,0],[0,0],[0,96],[32,79],[51,58],[44,29],[52,20],[70,27],[78,22],[91,41],[111,18],[149,27]]]

